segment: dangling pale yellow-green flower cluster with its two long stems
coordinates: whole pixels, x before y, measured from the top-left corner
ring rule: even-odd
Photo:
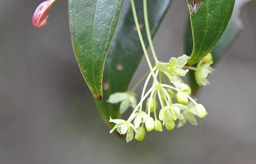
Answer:
[[[207,111],[203,105],[198,104],[193,99],[189,85],[183,82],[181,77],[185,76],[189,70],[195,71],[195,78],[198,85],[208,85],[208,74],[212,73],[212,55],[208,54],[197,65],[197,67],[186,66],[189,57],[182,55],[181,57],[172,57],[169,62],[159,62],[154,51],[151,40],[148,16],[147,16],[147,0],[143,0],[145,28],[149,41],[149,46],[155,60],[155,65],[152,67],[148,57],[143,37],[140,31],[140,26],[137,20],[134,0],[131,0],[131,8],[134,14],[134,21],[137,27],[137,32],[140,42],[150,68],[150,73],[145,76],[145,83],[141,93],[140,102],[137,103],[135,88],[129,92],[113,93],[109,99],[109,103],[119,103],[120,113],[124,113],[129,107],[133,108],[131,115],[127,120],[112,119],[116,125],[110,131],[112,133],[117,130],[121,135],[126,134],[126,141],[129,142],[134,138],[137,141],[143,141],[146,131],[155,130],[157,132],[163,131],[163,126],[166,130],[173,130],[176,122],[177,127],[182,127],[189,121],[192,125],[197,125],[195,117],[203,119],[207,115]],[[143,76],[144,77],[144,76]],[[144,79],[139,80],[139,82]],[[151,87],[148,88],[150,79],[153,79]],[[148,88],[148,90],[147,90]],[[147,90],[147,91],[146,91]],[[157,105],[159,102],[160,105]],[[144,103],[144,104],[143,104]]]

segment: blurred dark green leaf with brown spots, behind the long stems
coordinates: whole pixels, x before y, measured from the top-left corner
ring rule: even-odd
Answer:
[[[148,18],[152,36],[156,33],[172,0],[148,0]],[[143,1],[135,1],[138,20],[142,28],[143,39],[148,45],[144,28]],[[129,0],[125,1],[116,34],[108,51],[103,78],[103,101],[95,101],[99,113],[108,123],[109,116],[119,117],[119,104],[113,105],[106,100],[112,93],[128,89],[132,76],[140,63],[143,50],[135,28]]]

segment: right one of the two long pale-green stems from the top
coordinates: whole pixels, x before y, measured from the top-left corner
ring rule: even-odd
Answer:
[[[154,50],[154,46],[153,46],[152,39],[151,39],[150,29],[149,29],[147,0],[143,0],[143,8],[144,8],[145,28],[146,28],[146,32],[147,32],[149,47],[151,49],[151,52],[152,52],[155,62],[158,62],[157,55]]]

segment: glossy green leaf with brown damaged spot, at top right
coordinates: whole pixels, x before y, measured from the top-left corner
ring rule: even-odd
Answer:
[[[235,0],[187,0],[193,34],[188,65],[198,63],[218,43],[230,20]]]

